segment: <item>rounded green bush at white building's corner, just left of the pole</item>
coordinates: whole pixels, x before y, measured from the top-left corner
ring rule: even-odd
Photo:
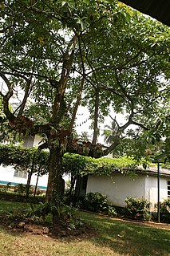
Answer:
[[[127,203],[129,217],[132,217],[133,219],[137,219],[137,220],[144,220],[144,221],[148,221],[150,219],[150,214],[149,214],[150,203],[146,199],[127,197],[125,199],[125,202]]]

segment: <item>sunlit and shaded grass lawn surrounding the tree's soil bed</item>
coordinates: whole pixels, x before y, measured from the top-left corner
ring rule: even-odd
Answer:
[[[0,201],[4,213],[19,207],[23,204]],[[79,214],[82,221],[97,229],[94,236],[52,239],[14,234],[1,228],[0,256],[170,256],[170,230],[91,213]]]

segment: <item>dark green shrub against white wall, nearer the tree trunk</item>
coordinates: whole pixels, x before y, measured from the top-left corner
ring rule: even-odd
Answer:
[[[86,195],[86,205],[89,210],[94,212],[106,212],[107,211],[107,196],[101,193],[88,193]]]

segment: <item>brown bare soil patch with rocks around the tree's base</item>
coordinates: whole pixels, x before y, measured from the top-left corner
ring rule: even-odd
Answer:
[[[0,226],[10,233],[24,234],[26,236],[34,235],[44,240],[87,238],[97,233],[97,230],[87,224],[71,230],[62,221],[57,221],[54,226],[48,226],[45,223],[37,224],[31,218],[11,218],[6,214],[0,214]]]

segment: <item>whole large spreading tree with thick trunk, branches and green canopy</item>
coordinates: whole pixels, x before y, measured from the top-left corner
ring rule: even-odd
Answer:
[[[1,10],[0,76],[11,129],[42,134],[49,148],[46,199],[60,193],[65,152],[107,155],[130,124],[164,129],[168,105],[169,29],[109,0],[9,1]],[[9,102],[18,99],[12,111]],[[92,143],[72,132],[79,105],[89,108]],[[113,144],[97,144],[99,122],[126,112]],[[162,131],[162,130],[161,130]]]

